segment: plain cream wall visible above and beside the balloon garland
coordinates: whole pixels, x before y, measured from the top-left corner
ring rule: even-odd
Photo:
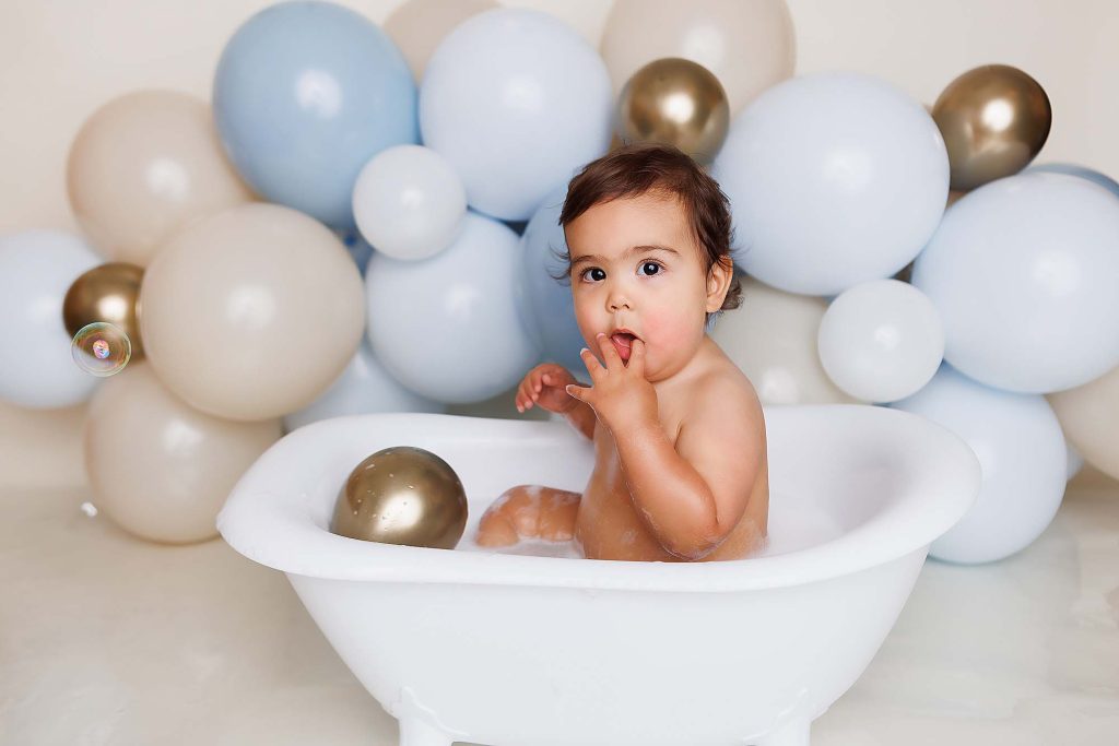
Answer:
[[[500,0],[562,18],[598,46],[610,0]],[[686,0],[681,0],[686,1]],[[881,76],[931,104],[966,69],[1021,67],[1049,93],[1037,159],[1119,176],[1119,11],[1113,0],[788,0],[797,72]],[[76,229],[65,159],[103,103],[145,87],[209,98],[228,37],[265,0],[0,2],[0,232]],[[344,1],[383,22],[398,0]],[[2,374],[0,374],[2,375]],[[81,487],[84,407],[0,403],[0,484]]]

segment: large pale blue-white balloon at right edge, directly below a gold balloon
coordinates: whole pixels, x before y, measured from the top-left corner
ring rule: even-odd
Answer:
[[[1031,171],[965,195],[913,263],[940,312],[944,359],[989,386],[1040,394],[1119,366],[1119,200]]]

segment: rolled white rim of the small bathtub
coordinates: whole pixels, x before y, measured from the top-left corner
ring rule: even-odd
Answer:
[[[321,528],[304,506],[278,489],[260,489],[257,472],[286,451],[336,428],[373,423],[454,418],[479,433],[554,437],[554,421],[514,421],[434,413],[349,415],[312,423],[273,444],[242,476],[217,517],[223,539],[245,557],[305,577],[388,583],[453,583],[587,589],[726,592],[802,585],[857,573],[929,546],[974,504],[981,485],[979,461],[962,438],[931,419],[882,406],[856,404],[767,406],[765,417],[792,419],[830,413],[849,424],[871,422],[912,440],[932,457],[915,474],[928,482],[904,500],[839,537],[786,554],[713,563],[665,563],[508,555],[361,541]],[[269,460],[272,464],[262,464]],[[951,464],[951,468],[948,466]],[[923,498],[923,499],[922,499]],[[302,547],[293,553],[291,547]]]

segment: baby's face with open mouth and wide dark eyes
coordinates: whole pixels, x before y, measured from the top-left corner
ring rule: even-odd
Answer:
[[[706,275],[680,201],[646,193],[601,202],[567,224],[565,236],[575,320],[591,351],[601,359],[598,333],[626,328],[645,342],[646,378],[681,370],[726,286]],[[628,341],[615,348],[628,360]]]

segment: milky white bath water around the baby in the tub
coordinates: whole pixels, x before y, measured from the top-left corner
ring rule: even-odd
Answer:
[[[536,557],[562,557],[582,559],[583,555],[574,541],[546,541],[543,539],[521,539],[508,547],[481,547],[474,542],[478,532],[478,520],[485,511],[486,501],[471,501],[472,512],[462,539],[455,549],[463,551],[483,551],[502,555],[532,555]],[[480,506],[476,509],[474,506]],[[843,526],[829,513],[817,509],[809,500],[782,500],[777,492],[770,492],[768,544],[752,557],[769,557],[784,555],[790,551],[830,541],[844,532]]]

